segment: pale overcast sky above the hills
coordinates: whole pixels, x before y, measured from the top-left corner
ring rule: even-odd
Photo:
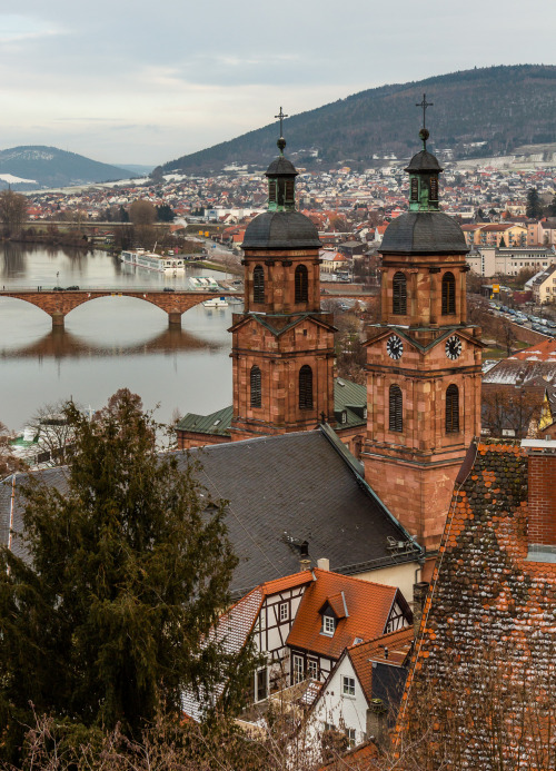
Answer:
[[[553,0],[10,7],[0,10],[0,148],[52,145],[110,164],[161,164],[232,139],[280,105],[292,115],[475,66],[556,63]]]

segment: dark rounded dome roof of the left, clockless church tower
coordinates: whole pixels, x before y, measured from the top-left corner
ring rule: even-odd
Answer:
[[[265,211],[249,223],[244,249],[312,249],[322,245],[311,220],[300,211]]]

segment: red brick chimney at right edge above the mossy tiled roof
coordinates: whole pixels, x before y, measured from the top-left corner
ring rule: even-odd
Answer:
[[[527,559],[556,562],[556,442],[524,439],[527,448]]]

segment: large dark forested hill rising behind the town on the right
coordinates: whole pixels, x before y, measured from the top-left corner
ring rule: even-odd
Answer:
[[[325,168],[344,160],[365,167],[374,156],[391,154],[407,158],[418,147],[421,111],[415,105],[424,92],[434,102],[427,113],[433,150],[449,148],[455,158],[465,158],[556,141],[556,67],[519,65],[383,86],[301,112],[284,121],[287,154],[309,168],[316,166],[315,150]],[[275,122],[182,156],[162,170],[219,171],[231,162],[265,166],[276,151],[277,136]]]

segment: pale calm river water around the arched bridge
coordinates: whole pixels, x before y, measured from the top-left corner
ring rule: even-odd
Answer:
[[[0,285],[8,288],[59,286],[85,288],[187,288],[191,275],[214,275],[188,267],[179,277],[123,266],[103,251],[7,244],[0,246]],[[182,316],[181,329],[143,300],[102,297],[66,317],[63,330],[22,300],[0,297],[0,421],[20,428],[41,405],[70,396],[93,408],[123,386],[146,407],[160,404],[156,417],[175,409],[207,413],[231,403],[229,358],[232,310],[198,305]]]

